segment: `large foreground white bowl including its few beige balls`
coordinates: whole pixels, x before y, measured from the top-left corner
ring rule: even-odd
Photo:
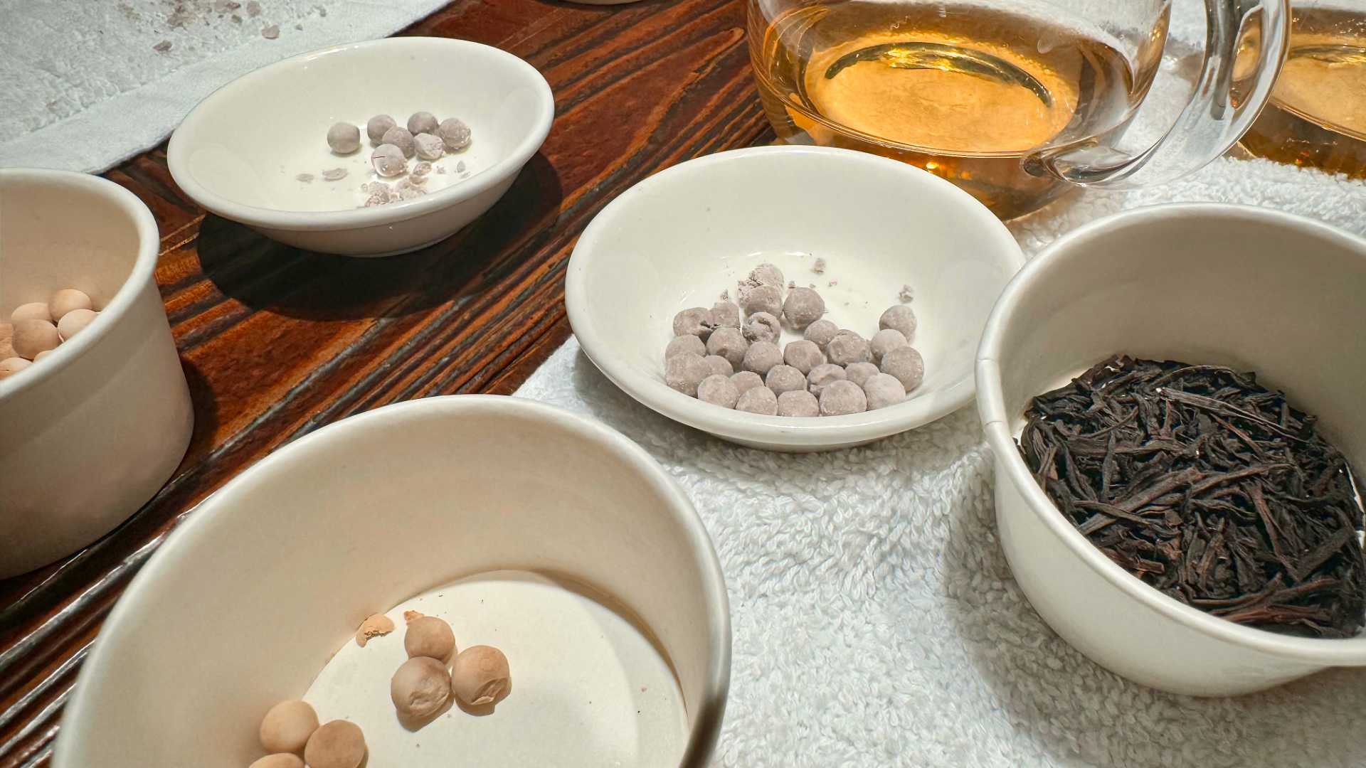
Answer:
[[[202,502],[101,629],[53,768],[246,768],[305,739],[311,768],[340,722],[370,768],[701,768],[729,660],[712,541],[643,448],[533,400],[428,398]]]

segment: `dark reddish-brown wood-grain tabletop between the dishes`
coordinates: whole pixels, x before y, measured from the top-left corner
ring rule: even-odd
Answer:
[[[511,51],[555,90],[545,146],[507,197],[447,242],[382,260],[302,253],[205,215],[171,180],[164,149],[108,174],[161,227],[157,282],[194,398],[194,439],[122,527],[0,582],[0,768],[51,763],[104,616],[197,502],[354,413],[512,392],[570,333],[564,265],[602,205],[661,168],[772,139],[740,0],[462,0],[403,34]]]

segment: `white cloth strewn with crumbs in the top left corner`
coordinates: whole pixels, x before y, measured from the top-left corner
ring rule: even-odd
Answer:
[[[104,171],[160,143],[239,75],[385,37],[444,4],[0,0],[0,167]],[[262,36],[269,26],[279,27],[276,40]],[[156,49],[165,42],[169,49]]]

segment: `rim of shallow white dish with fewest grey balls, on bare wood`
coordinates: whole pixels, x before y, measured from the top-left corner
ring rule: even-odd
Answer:
[[[421,46],[463,48],[475,52],[475,55],[486,56],[490,60],[503,61],[504,64],[508,64],[512,71],[520,72],[526,85],[537,93],[537,113],[534,115],[530,131],[522,137],[522,139],[501,159],[499,159],[497,163],[489,165],[478,174],[474,174],[467,180],[422,195],[417,200],[404,201],[399,205],[340,210],[287,210],[246,205],[223,197],[201,184],[195,179],[194,174],[190,172],[189,164],[194,146],[189,145],[189,139],[180,128],[209,119],[217,108],[217,102],[231,98],[238,90],[250,89],[260,81],[280,77],[281,74],[296,68],[299,64],[326,56],[346,56],[354,51],[370,48]],[[418,216],[426,213],[451,208],[452,205],[464,202],[497,187],[510,176],[515,176],[518,171],[526,165],[531,156],[541,149],[541,145],[545,143],[545,137],[550,133],[550,124],[553,120],[555,94],[550,92],[550,83],[548,83],[545,77],[526,60],[508,53],[501,48],[484,45],[482,42],[474,42],[470,40],[455,40],[447,37],[387,37],[380,40],[332,45],[299,53],[296,56],[290,56],[288,59],[281,59],[273,64],[255,68],[214,89],[213,93],[205,96],[198,104],[194,105],[194,108],[190,109],[184,119],[180,120],[180,124],[176,126],[176,130],[171,134],[171,142],[167,146],[167,167],[171,171],[171,178],[175,179],[175,183],[184,190],[191,200],[232,221],[284,231],[328,232],[357,230],[417,219]]]

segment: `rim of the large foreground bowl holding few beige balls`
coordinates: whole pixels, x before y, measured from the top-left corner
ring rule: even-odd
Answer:
[[[690,730],[684,753],[680,757],[680,765],[687,765],[688,768],[703,765],[705,758],[712,753],[720,737],[729,691],[731,605],[725,588],[725,575],[721,570],[716,547],[691,499],[645,448],[591,417],[525,398],[504,395],[441,395],[391,403],[325,425],[272,451],[199,502],[191,510],[194,514],[187,512],[182,515],[183,522],[167,536],[165,541],[157,548],[157,552],[133,577],[128,588],[119,596],[109,616],[100,627],[94,648],[85,664],[82,664],[75,690],[66,705],[66,712],[61,717],[63,727],[57,732],[53,749],[53,767],[76,768],[66,756],[72,753],[71,742],[79,738],[75,735],[79,730],[75,724],[86,720],[86,711],[93,705],[94,686],[92,683],[98,671],[112,661],[109,655],[113,653],[113,646],[109,642],[104,642],[105,638],[112,633],[137,634],[138,627],[128,622],[133,620],[130,619],[130,614],[145,604],[146,597],[143,593],[150,589],[150,585],[167,578],[165,571],[184,559],[184,553],[180,552],[183,547],[213,537],[219,522],[217,518],[232,512],[234,496],[265,480],[290,474],[292,465],[318,447],[339,441],[357,441],[373,425],[402,420],[458,420],[471,413],[530,415],[537,421],[553,424],[586,441],[608,448],[626,461],[665,500],[667,511],[682,523],[687,537],[686,545],[691,551],[694,563],[703,579],[703,592],[709,604],[712,629],[709,638],[710,657],[708,668],[703,672],[705,687],[702,701],[697,702],[695,726]]]

